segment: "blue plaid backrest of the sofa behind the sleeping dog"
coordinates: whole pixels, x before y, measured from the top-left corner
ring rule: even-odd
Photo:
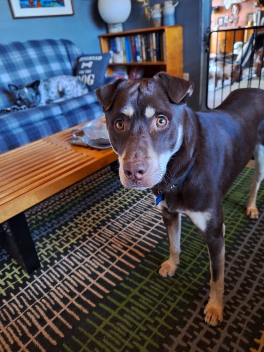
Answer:
[[[37,79],[72,75],[82,54],[68,40],[31,40],[0,45],[0,109],[13,104],[8,84],[22,85]]]

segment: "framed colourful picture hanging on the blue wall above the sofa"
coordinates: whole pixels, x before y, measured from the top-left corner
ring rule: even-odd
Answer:
[[[9,0],[14,19],[72,16],[72,0]]]

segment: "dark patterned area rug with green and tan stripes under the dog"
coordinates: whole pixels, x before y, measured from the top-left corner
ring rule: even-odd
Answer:
[[[172,278],[161,213],[149,191],[124,190],[107,167],[27,212],[41,269],[28,276],[0,251],[1,351],[263,351],[264,187],[245,215],[253,170],[226,195],[224,321],[203,320],[209,260],[183,218]]]

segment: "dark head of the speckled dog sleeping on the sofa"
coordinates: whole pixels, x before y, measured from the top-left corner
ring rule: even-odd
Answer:
[[[9,84],[8,86],[13,93],[17,105],[33,107],[39,105],[40,102],[39,85],[40,81],[37,80],[27,85],[17,86],[15,84]]]

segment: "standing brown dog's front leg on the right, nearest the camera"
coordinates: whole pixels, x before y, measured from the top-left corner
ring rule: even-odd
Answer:
[[[222,224],[218,228],[208,228],[205,231],[210,258],[210,298],[204,309],[205,321],[212,326],[223,320],[224,294],[224,230]]]

